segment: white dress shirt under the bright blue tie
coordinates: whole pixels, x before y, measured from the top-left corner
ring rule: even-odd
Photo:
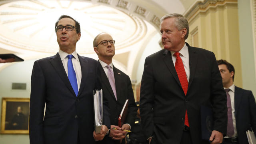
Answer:
[[[59,50],[59,55],[60,55],[60,59],[62,61],[62,64],[63,64],[64,69],[68,76],[68,58],[67,58],[67,56],[69,54],[66,52],[63,52],[62,50]],[[74,51],[72,53],[72,55],[74,56],[74,58],[72,58],[72,63],[73,63],[73,68],[76,72],[76,81],[77,81],[77,87],[78,87],[78,91],[79,91],[80,84],[81,84],[81,78],[82,78],[82,70],[81,70],[81,65],[80,65],[76,51]]]

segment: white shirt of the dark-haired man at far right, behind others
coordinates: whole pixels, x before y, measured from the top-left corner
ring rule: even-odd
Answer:
[[[226,89],[226,88],[224,88]],[[229,87],[230,91],[228,92],[228,94],[230,95],[230,101],[231,101],[231,108],[232,108],[232,120],[233,120],[233,126],[234,126],[234,134],[231,138],[236,137],[237,136],[237,131],[236,131],[236,117],[235,117],[235,85],[232,84]],[[225,138],[229,138],[228,136],[226,136]]]

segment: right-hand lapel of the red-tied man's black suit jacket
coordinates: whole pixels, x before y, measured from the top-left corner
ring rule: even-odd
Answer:
[[[197,64],[197,54],[193,47],[190,47],[188,43],[186,43],[188,46],[188,55],[189,55],[189,82],[188,82],[188,90],[190,85],[192,84],[195,71],[196,71],[196,64]]]

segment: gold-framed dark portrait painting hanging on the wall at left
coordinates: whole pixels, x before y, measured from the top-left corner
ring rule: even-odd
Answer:
[[[1,134],[29,134],[30,98],[2,98]]]

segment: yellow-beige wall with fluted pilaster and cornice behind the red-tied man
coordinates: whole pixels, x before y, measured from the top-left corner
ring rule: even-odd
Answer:
[[[237,2],[216,2],[191,12],[194,14],[187,17],[191,32],[187,42],[214,52],[217,60],[233,64],[234,83],[243,87]]]

